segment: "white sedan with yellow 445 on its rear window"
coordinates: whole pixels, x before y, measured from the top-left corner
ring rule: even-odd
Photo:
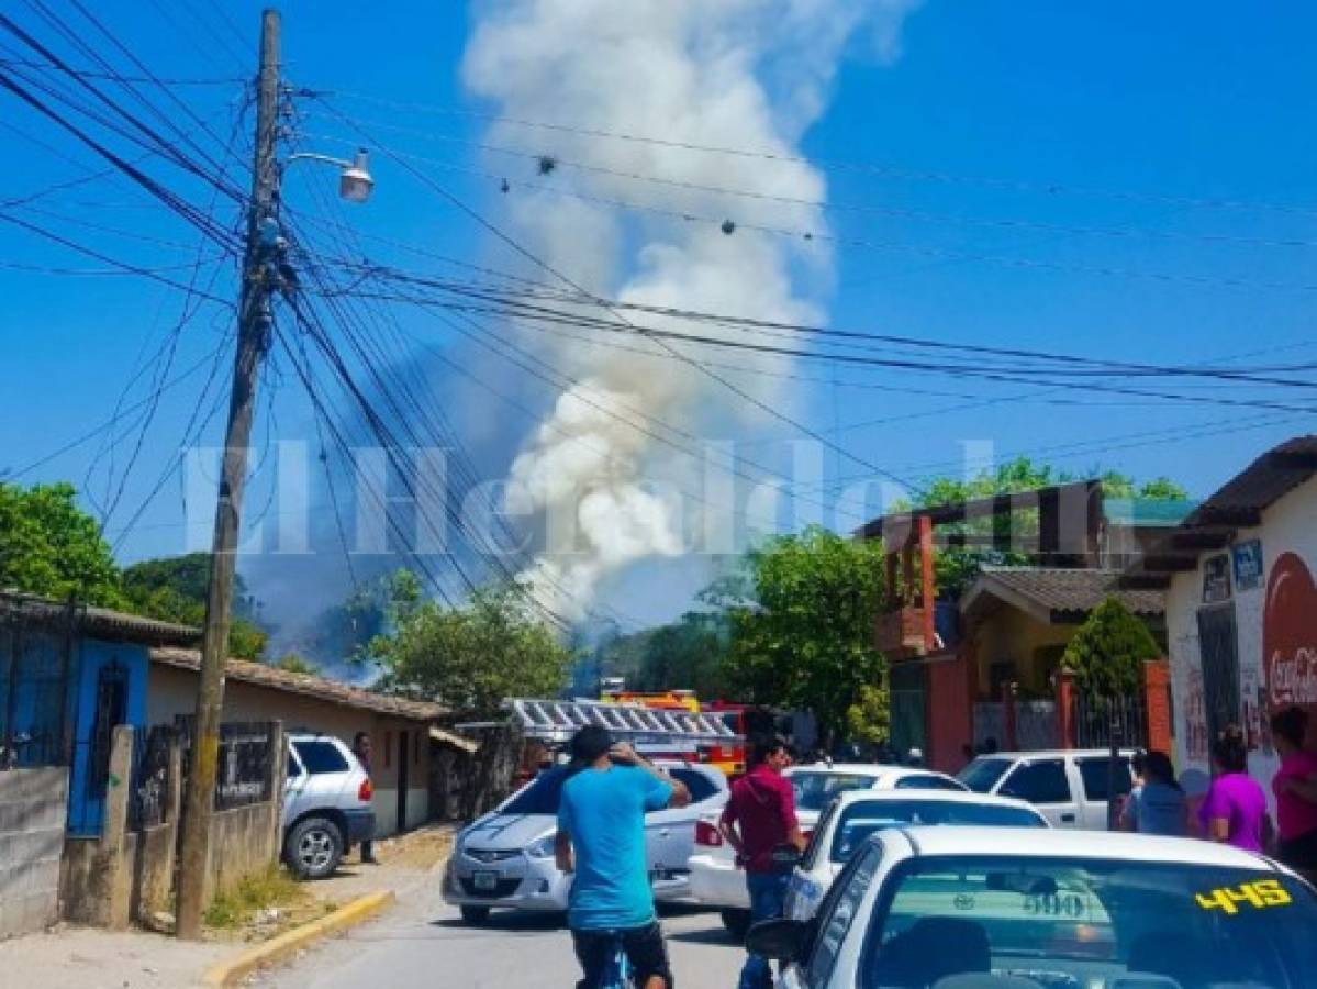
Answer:
[[[1297,989],[1317,894],[1229,845],[1063,830],[888,828],[818,914],[747,947],[785,989]]]

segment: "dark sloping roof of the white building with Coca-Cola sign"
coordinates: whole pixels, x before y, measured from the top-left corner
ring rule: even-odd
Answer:
[[[1263,453],[1121,575],[1125,586],[1164,586],[1169,574],[1195,570],[1198,554],[1229,545],[1237,529],[1317,474],[1317,436],[1296,436]]]

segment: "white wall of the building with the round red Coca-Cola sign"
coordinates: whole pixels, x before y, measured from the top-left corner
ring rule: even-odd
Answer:
[[[1263,579],[1258,587],[1241,590],[1231,572],[1231,601],[1235,606],[1235,649],[1239,658],[1241,710],[1237,722],[1250,740],[1249,773],[1263,784],[1268,801],[1271,777],[1279,760],[1271,748],[1266,728],[1267,703],[1285,703],[1277,685],[1267,682],[1263,656],[1263,611],[1267,583],[1276,560],[1285,552],[1295,553],[1317,575],[1317,477],[1308,479],[1263,512],[1262,524],[1239,529],[1235,545],[1260,540]],[[1204,568],[1209,558],[1225,550],[1198,554],[1198,568],[1175,574],[1167,591],[1167,644],[1171,653],[1171,693],[1175,703],[1175,757],[1181,773],[1209,772],[1206,718],[1202,703],[1202,664],[1198,653],[1198,608],[1202,603]],[[1317,602],[1314,602],[1317,604]],[[1317,629],[1317,607],[1312,612]],[[1317,633],[1313,635],[1317,643]],[[1314,670],[1317,672],[1317,670]],[[1259,698],[1263,705],[1259,705]]]

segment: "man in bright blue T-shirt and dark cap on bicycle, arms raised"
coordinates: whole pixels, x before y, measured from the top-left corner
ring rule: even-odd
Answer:
[[[585,978],[577,989],[601,989],[620,939],[636,985],[672,989],[668,948],[655,913],[645,856],[645,814],[685,807],[690,790],[614,744],[598,724],[572,739],[572,776],[562,785],[554,852],[574,872],[568,927]]]

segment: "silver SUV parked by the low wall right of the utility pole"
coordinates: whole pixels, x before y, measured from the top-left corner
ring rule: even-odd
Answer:
[[[332,735],[288,735],[283,785],[283,861],[298,878],[333,873],[348,851],[375,830],[370,776]]]

